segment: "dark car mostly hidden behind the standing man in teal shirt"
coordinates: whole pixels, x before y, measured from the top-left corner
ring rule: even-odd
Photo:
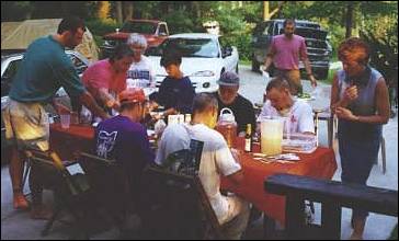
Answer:
[[[5,51],[1,53],[1,110],[5,107],[5,104],[9,100],[9,91],[12,84],[12,79],[14,78],[18,66],[22,61],[23,53],[16,54],[5,54]],[[89,60],[83,57],[81,54],[75,50],[66,50],[66,54],[72,59],[72,62],[79,73],[81,76],[83,71],[89,66]],[[64,104],[70,105],[70,100],[64,88],[60,88],[56,93],[56,97]],[[52,108],[46,107],[46,111],[52,112]],[[5,128],[3,119],[1,118],[1,160],[5,161]]]

